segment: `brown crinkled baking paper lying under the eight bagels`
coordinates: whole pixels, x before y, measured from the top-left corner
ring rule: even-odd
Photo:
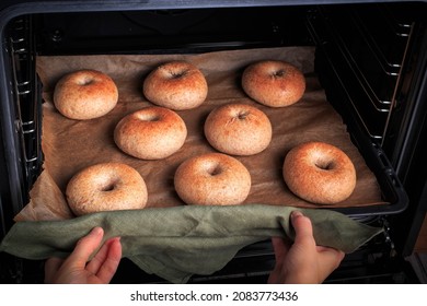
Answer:
[[[295,105],[282,108],[263,106],[249,98],[241,87],[243,69],[257,60],[285,60],[304,73],[307,90]],[[142,94],[145,76],[155,67],[171,60],[196,64],[208,82],[205,103],[189,110],[176,111],[185,121],[188,136],[183,148],[160,161],[142,161],[123,153],[114,143],[116,123],[126,115],[152,106]],[[326,101],[314,73],[314,48],[286,47],[251,50],[217,51],[201,55],[113,55],[38,57],[37,73],[43,83],[44,174],[31,192],[30,204],[16,220],[53,220],[72,217],[65,200],[69,179],[86,166],[102,162],[122,162],[135,167],[147,184],[149,208],[183,205],[177,197],[173,176],[177,166],[196,154],[215,152],[205,139],[205,119],[215,107],[227,103],[245,103],[263,110],[272,121],[273,139],[262,153],[235,156],[250,170],[252,188],[243,204],[265,203],[299,208],[362,207],[384,203],[374,175],[351,143],[341,116]],[[79,121],[60,115],[53,104],[56,82],[78,69],[96,69],[116,82],[117,106],[102,118]],[[334,205],[305,202],[287,188],[281,167],[287,152],[305,141],[323,141],[342,149],[353,161],[357,185],[353,195]],[[45,183],[44,180],[48,180]],[[37,188],[43,186],[44,188]],[[60,200],[58,200],[60,199]],[[48,213],[50,212],[50,213]]]

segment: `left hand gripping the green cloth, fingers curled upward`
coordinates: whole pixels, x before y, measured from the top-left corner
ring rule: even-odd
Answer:
[[[57,284],[107,284],[117,271],[122,258],[119,237],[107,239],[96,255],[104,229],[94,227],[80,238],[67,259],[49,258],[45,263],[45,283]]]

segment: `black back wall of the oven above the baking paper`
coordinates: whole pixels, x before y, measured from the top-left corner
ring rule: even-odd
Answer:
[[[203,52],[312,44],[304,7],[42,14],[41,55]]]

